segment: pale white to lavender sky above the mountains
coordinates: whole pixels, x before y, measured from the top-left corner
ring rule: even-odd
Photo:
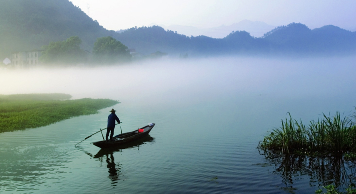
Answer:
[[[155,25],[213,28],[244,19],[356,31],[356,0],[70,0],[108,30]],[[88,9],[89,7],[89,9]]]

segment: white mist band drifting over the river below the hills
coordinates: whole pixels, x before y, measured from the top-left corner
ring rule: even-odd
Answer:
[[[275,97],[340,99],[355,92],[355,57],[203,58],[128,65],[55,67],[0,71],[0,94],[66,93],[73,99],[111,98],[154,105]],[[354,105],[350,105],[354,106]],[[332,110],[320,111],[335,111]]]

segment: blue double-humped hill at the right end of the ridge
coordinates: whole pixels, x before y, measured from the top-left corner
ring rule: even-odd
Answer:
[[[356,32],[333,25],[310,30],[292,23],[264,34],[263,39],[277,52],[307,54],[356,54]]]

